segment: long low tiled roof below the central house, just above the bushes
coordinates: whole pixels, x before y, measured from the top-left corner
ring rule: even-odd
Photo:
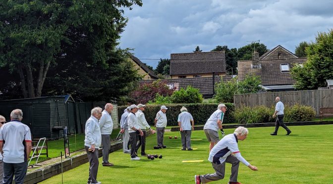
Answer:
[[[222,77],[223,81],[231,80],[231,75]],[[202,77],[202,78],[183,78],[183,79],[162,79],[166,84],[172,84],[174,87],[187,88],[192,86],[193,88],[199,89],[203,96],[213,96],[213,77]],[[141,81],[141,83],[151,83],[153,80]],[[221,77],[215,77],[215,84],[221,82]]]

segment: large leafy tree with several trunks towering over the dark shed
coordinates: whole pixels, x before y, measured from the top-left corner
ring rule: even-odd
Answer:
[[[75,60],[78,65],[91,61],[108,68],[112,50],[127,22],[120,8],[131,9],[134,4],[141,6],[142,2],[1,1],[0,66],[19,74],[20,83],[14,85],[21,87],[24,97],[41,96],[50,66],[81,46],[85,45],[87,53],[84,58],[75,56],[80,58]]]

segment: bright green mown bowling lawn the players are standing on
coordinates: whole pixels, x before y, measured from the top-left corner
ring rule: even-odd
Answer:
[[[274,127],[249,128],[248,138],[239,141],[242,156],[259,171],[252,171],[243,164],[239,166],[238,182],[243,184],[332,184],[333,125],[291,126],[290,136],[284,136],[280,128],[278,136],[271,136]],[[234,129],[225,129],[231,134]],[[178,132],[165,134],[166,149],[154,150],[156,134],[147,138],[147,153],[162,154],[162,159],[131,161],[129,154],[121,150],[110,154],[113,167],[100,167],[98,181],[102,184],[191,184],[194,175],[213,173],[208,158],[209,143],[203,131],[192,133],[193,151],[182,151]],[[182,163],[183,160],[203,162]],[[225,178],[216,183],[226,184],[230,175],[226,164]],[[66,184],[84,184],[89,175],[89,163],[63,173]],[[61,175],[42,184],[59,184]]]

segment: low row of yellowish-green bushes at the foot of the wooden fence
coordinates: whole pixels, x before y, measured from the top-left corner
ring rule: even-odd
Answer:
[[[276,121],[272,117],[274,111],[275,107],[241,107],[235,109],[233,116],[235,121],[241,124],[269,123]],[[315,110],[310,106],[298,104],[292,107],[285,106],[283,122],[311,121],[315,117],[315,114]]]

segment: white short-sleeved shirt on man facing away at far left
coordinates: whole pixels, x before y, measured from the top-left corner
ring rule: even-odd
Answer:
[[[30,128],[21,123],[19,120],[12,120],[0,129],[0,141],[3,144],[3,162],[5,163],[22,163],[27,161],[25,144],[31,142]]]

